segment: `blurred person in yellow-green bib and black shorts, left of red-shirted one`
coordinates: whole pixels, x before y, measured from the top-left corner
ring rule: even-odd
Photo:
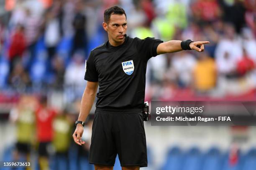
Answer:
[[[14,160],[30,162],[30,153],[35,135],[34,107],[36,100],[33,96],[22,95],[18,105],[10,111],[10,120],[16,125],[17,143]]]

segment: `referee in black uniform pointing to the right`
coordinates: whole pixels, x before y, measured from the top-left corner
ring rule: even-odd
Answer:
[[[207,41],[144,40],[125,35],[125,11],[110,7],[104,12],[102,26],[108,41],[96,47],[86,62],[87,86],[81,102],[74,142],[81,140],[83,125],[89,114],[97,87],[97,103],[92,125],[89,162],[95,170],[111,170],[118,154],[122,170],[147,166],[146,135],[143,125],[147,61],[156,55],[181,50],[202,52]]]

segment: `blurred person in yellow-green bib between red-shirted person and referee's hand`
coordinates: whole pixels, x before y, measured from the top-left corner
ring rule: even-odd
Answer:
[[[67,116],[67,110],[59,112],[53,122],[55,150],[54,170],[68,170],[68,150],[71,142],[72,120]]]

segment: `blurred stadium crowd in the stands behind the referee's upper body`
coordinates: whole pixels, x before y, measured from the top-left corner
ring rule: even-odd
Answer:
[[[103,12],[119,5],[130,37],[207,40],[205,52],[148,61],[147,100],[252,95],[256,88],[255,0],[7,0],[0,16],[0,87],[81,97],[84,62],[108,40]]]

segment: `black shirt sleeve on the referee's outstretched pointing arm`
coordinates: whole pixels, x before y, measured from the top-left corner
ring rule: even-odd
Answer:
[[[155,57],[157,55],[156,49],[157,46],[162,43],[162,40],[147,37],[143,40],[138,37],[134,38],[136,41],[137,51],[142,57],[143,60],[147,61],[151,57]]]

